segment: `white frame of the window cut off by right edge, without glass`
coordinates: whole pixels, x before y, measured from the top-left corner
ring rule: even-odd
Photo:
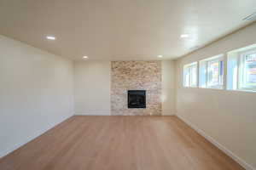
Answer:
[[[245,58],[249,54],[256,54],[256,48],[248,49],[246,51],[242,51],[238,53],[237,59],[237,89],[241,91],[253,91],[256,92],[256,85],[255,86],[245,86]]]

